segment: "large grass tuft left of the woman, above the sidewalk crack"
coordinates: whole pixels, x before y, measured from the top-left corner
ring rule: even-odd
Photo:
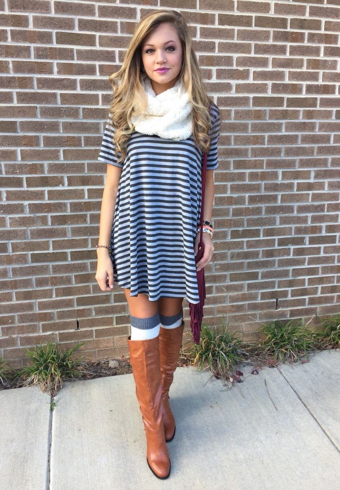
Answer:
[[[59,350],[57,343],[40,344],[34,350],[26,349],[32,364],[21,370],[24,386],[39,385],[43,392],[54,396],[64,381],[81,376],[80,359],[73,359],[72,353],[83,344],[78,343],[69,350]]]

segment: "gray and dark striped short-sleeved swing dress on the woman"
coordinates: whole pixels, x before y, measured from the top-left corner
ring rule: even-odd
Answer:
[[[207,169],[218,167],[219,110],[211,110]],[[160,297],[198,303],[194,239],[201,200],[202,151],[192,137],[174,141],[134,131],[123,163],[117,163],[110,117],[98,160],[122,168],[111,247],[115,281]]]

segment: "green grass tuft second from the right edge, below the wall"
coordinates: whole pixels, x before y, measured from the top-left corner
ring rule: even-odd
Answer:
[[[260,349],[272,355],[277,361],[299,361],[308,351],[317,347],[316,335],[311,332],[301,320],[281,320],[265,323],[259,329],[265,335],[260,340]]]

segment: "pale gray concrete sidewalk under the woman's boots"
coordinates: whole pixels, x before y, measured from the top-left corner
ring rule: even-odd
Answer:
[[[132,374],[0,392],[0,490],[339,490],[340,349],[243,367],[231,390],[178,368],[171,473],[146,464]]]

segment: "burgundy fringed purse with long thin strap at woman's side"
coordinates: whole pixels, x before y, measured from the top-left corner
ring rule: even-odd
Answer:
[[[202,162],[202,198],[201,198],[201,218],[200,218],[200,234],[199,234],[199,244],[198,252],[195,256],[195,264],[203,257],[204,254],[204,243],[203,243],[203,212],[204,212],[204,194],[205,194],[205,177],[207,173],[207,153],[204,153]],[[197,275],[197,286],[198,286],[198,303],[189,303],[190,312],[190,328],[193,333],[194,343],[199,343],[199,338],[201,335],[201,324],[203,318],[203,306],[206,298],[205,294],[205,278],[204,269],[196,270]]]

